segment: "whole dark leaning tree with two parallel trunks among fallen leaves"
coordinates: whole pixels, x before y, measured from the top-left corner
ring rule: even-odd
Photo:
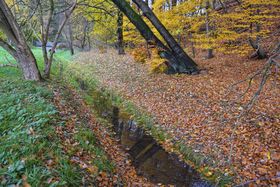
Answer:
[[[112,0],[112,2],[128,17],[132,24],[135,25],[148,44],[157,47],[159,56],[167,60],[167,65],[169,69],[172,69],[172,72],[188,74],[198,73],[199,70],[197,64],[185,53],[145,2],[142,0],[133,0],[139,9],[142,10],[144,16],[151,21],[157,31],[161,34],[168,46],[164,45],[163,42],[156,37],[151,28],[146,24],[142,17],[133,10],[128,2],[124,0]]]

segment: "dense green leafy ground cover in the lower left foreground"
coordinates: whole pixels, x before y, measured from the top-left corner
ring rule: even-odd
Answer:
[[[46,184],[51,177],[58,179],[53,184],[78,184],[65,180],[69,171],[79,169],[77,166],[46,167],[47,160],[58,159],[62,163],[68,159],[60,140],[52,136],[55,127],[63,125],[50,104],[52,93],[41,85],[15,78],[2,79],[0,93],[0,184],[20,185],[23,176],[34,186],[52,185]]]

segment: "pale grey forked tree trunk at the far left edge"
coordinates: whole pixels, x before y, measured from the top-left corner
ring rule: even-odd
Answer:
[[[0,29],[13,43],[12,46],[0,39],[0,46],[16,59],[22,69],[24,78],[26,80],[41,80],[36,59],[4,0],[0,0]]]

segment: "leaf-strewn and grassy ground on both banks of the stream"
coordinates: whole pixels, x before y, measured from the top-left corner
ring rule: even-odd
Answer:
[[[34,52],[42,67],[40,50]],[[6,61],[6,53],[0,54],[0,61]],[[222,184],[219,176],[214,177],[219,170],[233,176],[234,184],[280,183],[279,72],[272,72],[254,108],[241,118],[237,116],[257,90],[260,77],[242,99],[238,100],[248,81],[229,89],[265,61],[196,59],[205,70],[189,76],[152,74],[129,55],[111,50],[78,53],[74,59],[64,52],[56,55],[55,75],[49,82],[22,81],[18,69],[0,69],[0,185],[153,186],[136,175],[110,127],[104,125],[108,122],[97,114],[96,106],[111,108],[123,104],[121,100],[152,117],[151,134],[160,137],[155,138],[167,151],[186,162],[191,154],[186,155],[185,147],[205,156],[206,161],[193,157],[202,161],[204,170],[188,164],[212,182]],[[150,121],[146,116],[139,119]],[[178,142],[183,146],[175,150]]]

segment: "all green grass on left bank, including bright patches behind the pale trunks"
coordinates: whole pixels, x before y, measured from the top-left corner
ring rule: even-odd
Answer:
[[[41,50],[35,48],[33,52],[42,69]],[[56,53],[53,76],[57,76],[57,62],[70,58],[69,52]],[[7,63],[7,59],[15,62],[0,48],[0,63]],[[0,68],[0,186],[21,186],[24,182],[31,186],[82,186],[85,176],[90,176],[93,183],[97,174],[91,175],[70,162],[77,151],[91,155],[98,171],[114,170],[86,123],[79,124],[72,137],[78,145],[65,151],[56,133],[56,127],[65,127],[65,119],[52,104],[50,83],[25,81],[19,69]],[[65,98],[65,102],[69,102],[67,99],[71,98]]]

